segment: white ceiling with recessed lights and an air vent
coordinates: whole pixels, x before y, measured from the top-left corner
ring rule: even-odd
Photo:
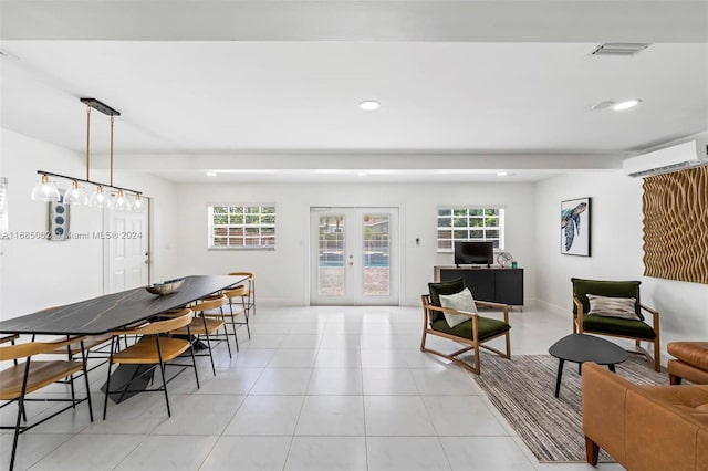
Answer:
[[[117,169],[176,181],[533,181],[708,129],[705,1],[0,8],[3,127],[84,153],[95,97],[122,113]],[[589,55],[603,42],[652,44]]]

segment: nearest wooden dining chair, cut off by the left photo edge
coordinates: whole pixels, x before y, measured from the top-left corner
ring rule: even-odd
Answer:
[[[11,339],[13,341],[13,339]],[[33,359],[37,355],[43,355],[52,353],[55,348],[62,348],[66,345],[77,342],[82,344],[81,337],[70,338],[61,342],[28,342],[17,345],[9,345],[0,347],[0,362],[12,360],[12,366],[0,371],[0,400],[7,401],[1,407],[6,407],[9,404],[18,402],[18,416],[13,427],[0,426],[1,429],[14,429],[14,437],[12,440],[12,454],[10,457],[10,470],[14,467],[14,459],[17,456],[18,438],[20,433],[45,422],[46,420],[58,416],[65,410],[75,408],[76,405],[87,401],[88,402],[88,416],[93,421],[93,410],[91,407],[91,389],[88,385],[88,375],[86,371],[86,355],[82,345],[82,360],[37,360]],[[24,362],[19,362],[24,358]],[[86,386],[86,397],[76,398],[73,388],[73,376],[75,373],[82,371]],[[71,378],[72,391],[71,399],[58,398],[58,397],[27,397],[29,394],[58,383],[64,378]],[[56,402],[71,402],[61,410],[54,411],[49,417],[44,417],[41,420],[32,425],[21,425],[22,419],[27,422],[27,408],[25,402],[29,401],[56,401]]]

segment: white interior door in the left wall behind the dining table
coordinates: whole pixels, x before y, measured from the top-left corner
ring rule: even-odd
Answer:
[[[145,198],[146,202],[148,201]],[[149,283],[149,202],[143,212],[104,212],[104,291],[119,291]]]

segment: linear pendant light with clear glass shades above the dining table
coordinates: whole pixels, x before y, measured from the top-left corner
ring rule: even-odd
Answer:
[[[105,103],[95,98],[80,98],[86,104],[86,179],[67,177],[65,175],[52,174],[50,171],[38,170],[41,175],[40,181],[32,189],[32,199],[39,201],[61,201],[56,186],[50,180],[51,177],[71,180],[71,187],[64,192],[63,200],[67,205],[87,205],[102,209],[115,209],[118,211],[133,210],[140,212],[144,209],[144,201],[140,191],[128,188],[116,187],[113,185],[113,125],[114,117],[121,116],[121,113]],[[91,109],[97,109],[101,113],[111,116],[111,179],[110,184],[101,184],[91,180]],[[81,184],[88,184],[95,187],[91,197]],[[133,201],[131,202],[131,195]]]

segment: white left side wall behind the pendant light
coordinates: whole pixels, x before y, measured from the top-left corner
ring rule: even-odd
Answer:
[[[83,156],[12,130],[0,128],[0,175],[7,177],[9,236],[0,241],[0,318],[10,318],[40,308],[94,297],[103,292],[103,242],[97,239],[48,241],[20,239],[21,234],[46,231],[48,205],[30,200],[38,180],[37,170],[85,176]],[[105,179],[105,172],[92,171],[92,179]],[[142,188],[152,197],[158,216],[153,221],[154,278],[175,272],[174,185],[142,176],[116,175],[122,186]],[[58,181],[63,188],[66,181]],[[157,212],[156,211],[156,212]],[[72,232],[102,230],[102,212],[72,207]]]

